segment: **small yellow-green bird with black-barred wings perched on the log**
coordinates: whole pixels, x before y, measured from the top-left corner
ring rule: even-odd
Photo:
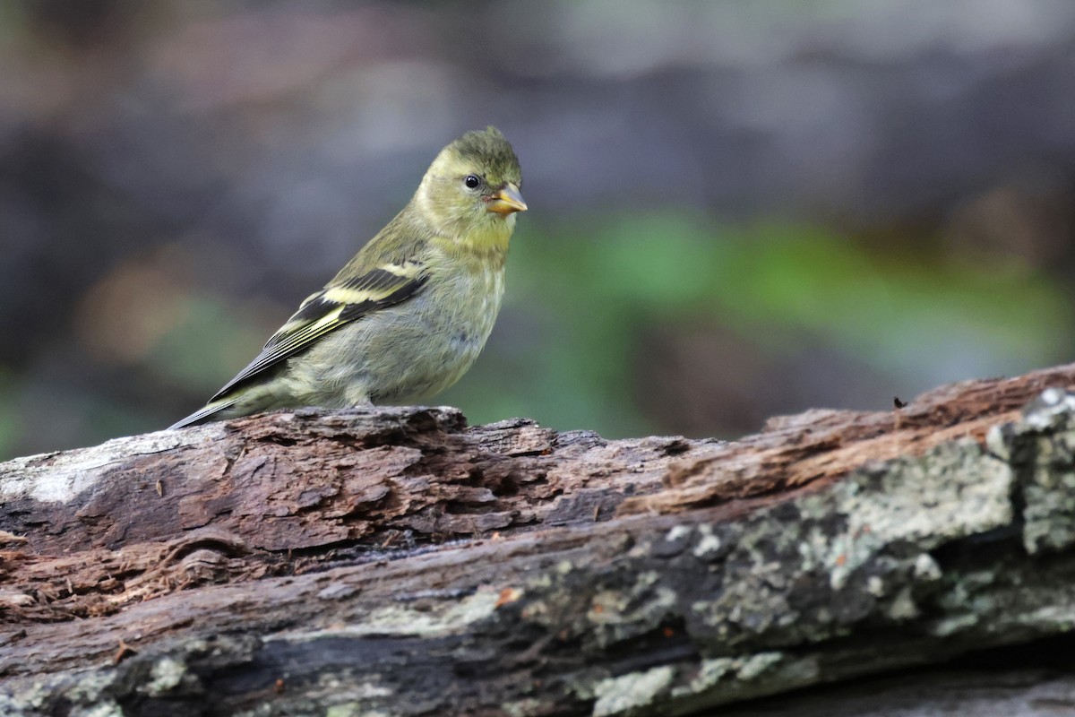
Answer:
[[[444,147],[414,197],[203,408],[171,428],[295,406],[410,403],[477,358],[525,212],[519,160],[489,127]]]

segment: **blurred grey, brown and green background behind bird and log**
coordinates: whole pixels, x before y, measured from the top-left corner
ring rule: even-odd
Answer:
[[[199,407],[469,129],[472,422],[734,438],[1075,358],[1070,0],[0,3],[0,458]]]

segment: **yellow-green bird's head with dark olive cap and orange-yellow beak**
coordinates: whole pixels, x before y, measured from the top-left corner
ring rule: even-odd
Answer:
[[[527,210],[522,171],[504,135],[489,127],[444,147],[418,187],[418,207],[439,231],[463,244],[503,244],[515,213]]]

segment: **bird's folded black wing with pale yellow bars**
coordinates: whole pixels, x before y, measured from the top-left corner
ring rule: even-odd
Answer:
[[[227,396],[238,385],[307,348],[330,331],[371,312],[392,306],[417,293],[429,276],[416,261],[383,263],[340,284],[330,284],[310,296],[291,318],[269,339],[249,365],[239,372],[210,403]]]

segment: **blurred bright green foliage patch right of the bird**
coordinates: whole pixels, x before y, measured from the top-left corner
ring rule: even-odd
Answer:
[[[637,339],[684,316],[768,357],[813,335],[882,373],[919,376],[918,390],[971,377],[966,365],[1015,373],[1062,358],[1060,287],[1012,261],[960,263],[913,245],[794,224],[721,227],[689,212],[520,223],[501,324],[441,400],[476,422],[520,415],[610,436],[660,431],[636,406],[647,385]]]

